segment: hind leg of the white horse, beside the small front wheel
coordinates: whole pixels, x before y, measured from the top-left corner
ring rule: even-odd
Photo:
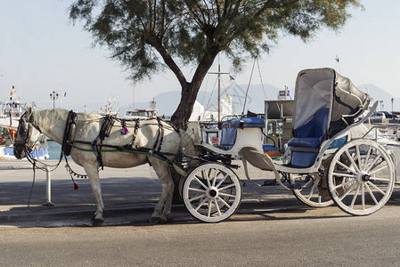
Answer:
[[[151,165],[154,168],[159,181],[161,182],[162,193],[159,202],[151,214],[151,223],[167,223],[171,213],[172,196],[174,193],[174,182],[172,180],[169,165],[159,159],[150,158]]]

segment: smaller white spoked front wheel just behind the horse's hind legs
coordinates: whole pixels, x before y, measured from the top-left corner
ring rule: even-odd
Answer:
[[[204,164],[186,177],[182,196],[195,218],[206,223],[221,222],[241,204],[241,181],[226,166]]]

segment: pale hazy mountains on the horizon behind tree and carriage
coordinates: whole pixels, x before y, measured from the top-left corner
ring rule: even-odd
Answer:
[[[232,84],[224,89],[221,89],[221,98],[224,98],[225,94],[228,94],[233,99],[233,109],[236,114],[240,114],[243,110],[243,104],[246,97],[248,85],[237,85]],[[356,86],[360,91],[368,93],[371,96],[371,104],[374,101],[382,101],[378,105],[378,110],[388,110],[392,111],[392,101],[393,98],[393,110],[400,111],[400,98],[394,98],[393,95],[387,93],[380,87],[376,85],[366,84]],[[248,99],[246,101],[246,107],[244,112],[250,110],[254,113],[264,113],[264,101],[265,100],[277,100],[278,92],[283,90],[283,88],[277,88],[273,85],[250,85]],[[159,116],[161,115],[172,115],[176,110],[181,98],[180,91],[171,91],[167,93],[159,93],[154,97],[157,102],[157,109],[159,109]],[[294,90],[290,90],[289,99],[294,98]],[[212,92],[200,91],[197,96],[197,101],[200,102],[205,107],[208,107],[209,111],[216,111],[217,107],[217,89]],[[148,102],[137,102],[135,103],[135,108],[137,109],[149,109]],[[120,107],[120,114],[125,114],[127,107]]]

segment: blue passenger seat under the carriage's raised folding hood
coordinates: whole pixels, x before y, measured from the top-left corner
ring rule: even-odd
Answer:
[[[297,129],[296,138],[290,139],[288,145],[292,152],[291,166],[309,167],[314,164],[321,143],[326,140],[329,124],[329,109],[319,109],[314,117]]]

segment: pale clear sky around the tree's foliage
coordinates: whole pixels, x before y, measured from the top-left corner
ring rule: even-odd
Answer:
[[[353,17],[339,32],[322,29],[308,43],[281,36],[272,51],[259,59],[260,68],[255,69],[251,84],[262,81],[293,88],[301,69],[328,67],[355,85],[373,84],[400,97],[400,1],[361,2],[363,10],[352,9]],[[110,61],[107,48],[94,47],[82,23],[69,21],[69,4],[67,0],[0,0],[0,100],[9,97],[14,85],[16,96],[35,101],[40,109],[51,109],[54,104],[98,111],[110,97],[122,107],[180,90],[169,70],[133,85],[118,61]],[[252,64],[249,61],[236,75],[237,84],[249,84]],[[216,70],[217,60],[210,71]],[[230,71],[224,55],[221,70]],[[188,79],[192,72],[184,69]],[[215,78],[209,75],[201,90],[211,91],[214,82],[210,80]],[[227,85],[228,77],[224,79]],[[55,102],[50,98],[53,91],[59,93]]]

